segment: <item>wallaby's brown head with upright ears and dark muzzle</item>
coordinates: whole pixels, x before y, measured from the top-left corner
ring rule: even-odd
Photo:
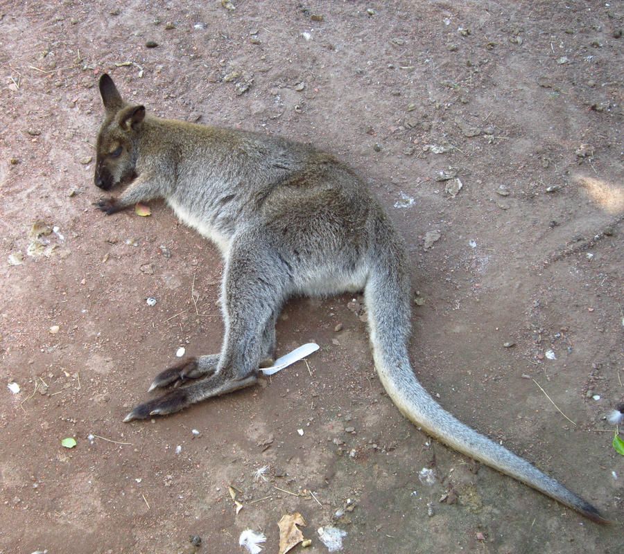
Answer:
[[[130,181],[135,176],[138,139],[145,107],[130,105],[107,73],[100,78],[105,116],[96,143],[95,184],[103,190]]]

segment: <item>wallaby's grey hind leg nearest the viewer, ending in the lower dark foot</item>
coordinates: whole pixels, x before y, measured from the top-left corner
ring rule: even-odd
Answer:
[[[246,246],[234,244],[229,252],[223,285],[225,337],[220,354],[214,358],[218,357],[216,370],[206,379],[139,404],[126,415],[125,422],[174,413],[257,382],[261,359],[275,350],[275,318],[284,301],[285,273],[272,265],[270,252],[259,252],[257,241],[241,240],[238,244],[254,244],[255,249],[250,251]],[[179,366],[176,368],[179,375]],[[188,376],[193,377],[198,372],[197,364],[191,362]],[[179,378],[173,368],[171,372],[162,372],[157,379],[161,376],[162,381],[169,384]]]

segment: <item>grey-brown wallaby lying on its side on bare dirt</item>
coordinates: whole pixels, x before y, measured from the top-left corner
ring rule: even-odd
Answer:
[[[179,411],[257,382],[275,354],[275,319],[293,295],[363,290],[379,378],[415,425],[443,443],[544,492],[598,523],[591,504],[530,463],[457,420],[417,381],[408,358],[410,283],[404,243],[363,179],[309,145],[146,114],[100,78],[105,118],[95,184],[121,196],[96,206],[110,215],[162,198],[225,258],[225,335],[218,354],[187,359],[150,386],[173,388],[124,421]]]

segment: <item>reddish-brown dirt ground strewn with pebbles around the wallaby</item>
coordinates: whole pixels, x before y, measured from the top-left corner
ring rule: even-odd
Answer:
[[[123,424],[180,347],[218,351],[223,265],[162,202],[92,202],[103,72],[346,159],[408,243],[424,386],[621,521],[623,27],[620,1],[2,1],[0,552],[242,553],[250,528],[277,553],[300,512],[293,552],[333,526],[346,553],[621,553],[410,425],[359,296],[291,301],[279,355],[321,348],[263,386]]]

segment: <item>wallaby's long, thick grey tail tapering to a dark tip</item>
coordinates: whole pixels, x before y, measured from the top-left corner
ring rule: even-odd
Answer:
[[[397,265],[397,258],[392,253],[386,252],[385,256],[388,256],[388,261],[394,258],[392,261]],[[526,460],[478,434],[433,400],[410,366],[406,346],[410,332],[407,278],[403,267],[397,269],[392,266],[392,263],[376,266],[365,287],[365,301],[375,368],[399,410],[427,434],[451,448],[526,483],[596,523],[609,524],[610,521],[590,503]]]

